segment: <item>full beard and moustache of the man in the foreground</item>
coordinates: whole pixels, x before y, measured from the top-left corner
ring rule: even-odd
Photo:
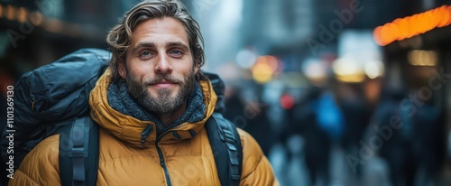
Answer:
[[[140,82],[135,79],[129,71],[126,71],[126,83],[128,93],[135,99],[138,104],[145,110],[156,113],[158,115],[170,115],[179,109],[189,98],[189,94],[194,91],[194,68],[190,71],[189,76],[185,79],[177,79],[167,74],[157,74],[152,79],[143,79]],[[148,91],[149,86],[161,80],[178,83],[178,90],[171,90],[170,88],[156,89],[157,96],[154,97]],[[172,91],[177,91],[175,96],[171,97]]]

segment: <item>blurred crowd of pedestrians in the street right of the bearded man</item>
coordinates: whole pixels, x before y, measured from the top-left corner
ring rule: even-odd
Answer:
[[[445,112],[390,78],[345,83],[329,74],[302,88],[226,79],[225,116],[261,144],[284,185],[294,184],[287,175],[305,185],[446,184]]]

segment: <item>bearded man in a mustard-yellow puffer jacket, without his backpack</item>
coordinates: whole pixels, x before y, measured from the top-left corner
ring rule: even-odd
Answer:
[[[198,23],[175,0],[145,1],[107,35],[110,68],[91,91],[100,126],[98,185],[219,185],[205,124],[216,93]],[[278,185],[259,145],[239,129],[240,185]],[[30,152],[11,185],[60,184],[59,137]]]

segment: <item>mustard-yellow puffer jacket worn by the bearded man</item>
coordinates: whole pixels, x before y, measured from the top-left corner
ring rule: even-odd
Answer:
[[[156,130],[153,130],[143,147],[141,133],[145,126],[155,128],[155,124],[125,116],[108,105],[109,74],[107,70],[97,81],[89,100],[91,116],[101,126],[97,185],[220,185],[204,128],[216,105],[210,82],[199,81],[207,106],[202,120],[170,129],[159,137],[157,145]],[[174,137],[172,131],[177,131],[181,139]],[[241,129],[238,133],[244,156],[240,185],[279,185],[271,164],[253,137]],[[60,135],[52,135],[38,144],[25,157],[9,184],[60,185],[59,138]]]

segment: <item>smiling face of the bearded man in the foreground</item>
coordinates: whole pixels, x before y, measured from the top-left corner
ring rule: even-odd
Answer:
[[[126,61],[119,63],[129,93],[157,114],[172,114],[185,103],[197,72],[185,28],[170,17],[140,23]]]

